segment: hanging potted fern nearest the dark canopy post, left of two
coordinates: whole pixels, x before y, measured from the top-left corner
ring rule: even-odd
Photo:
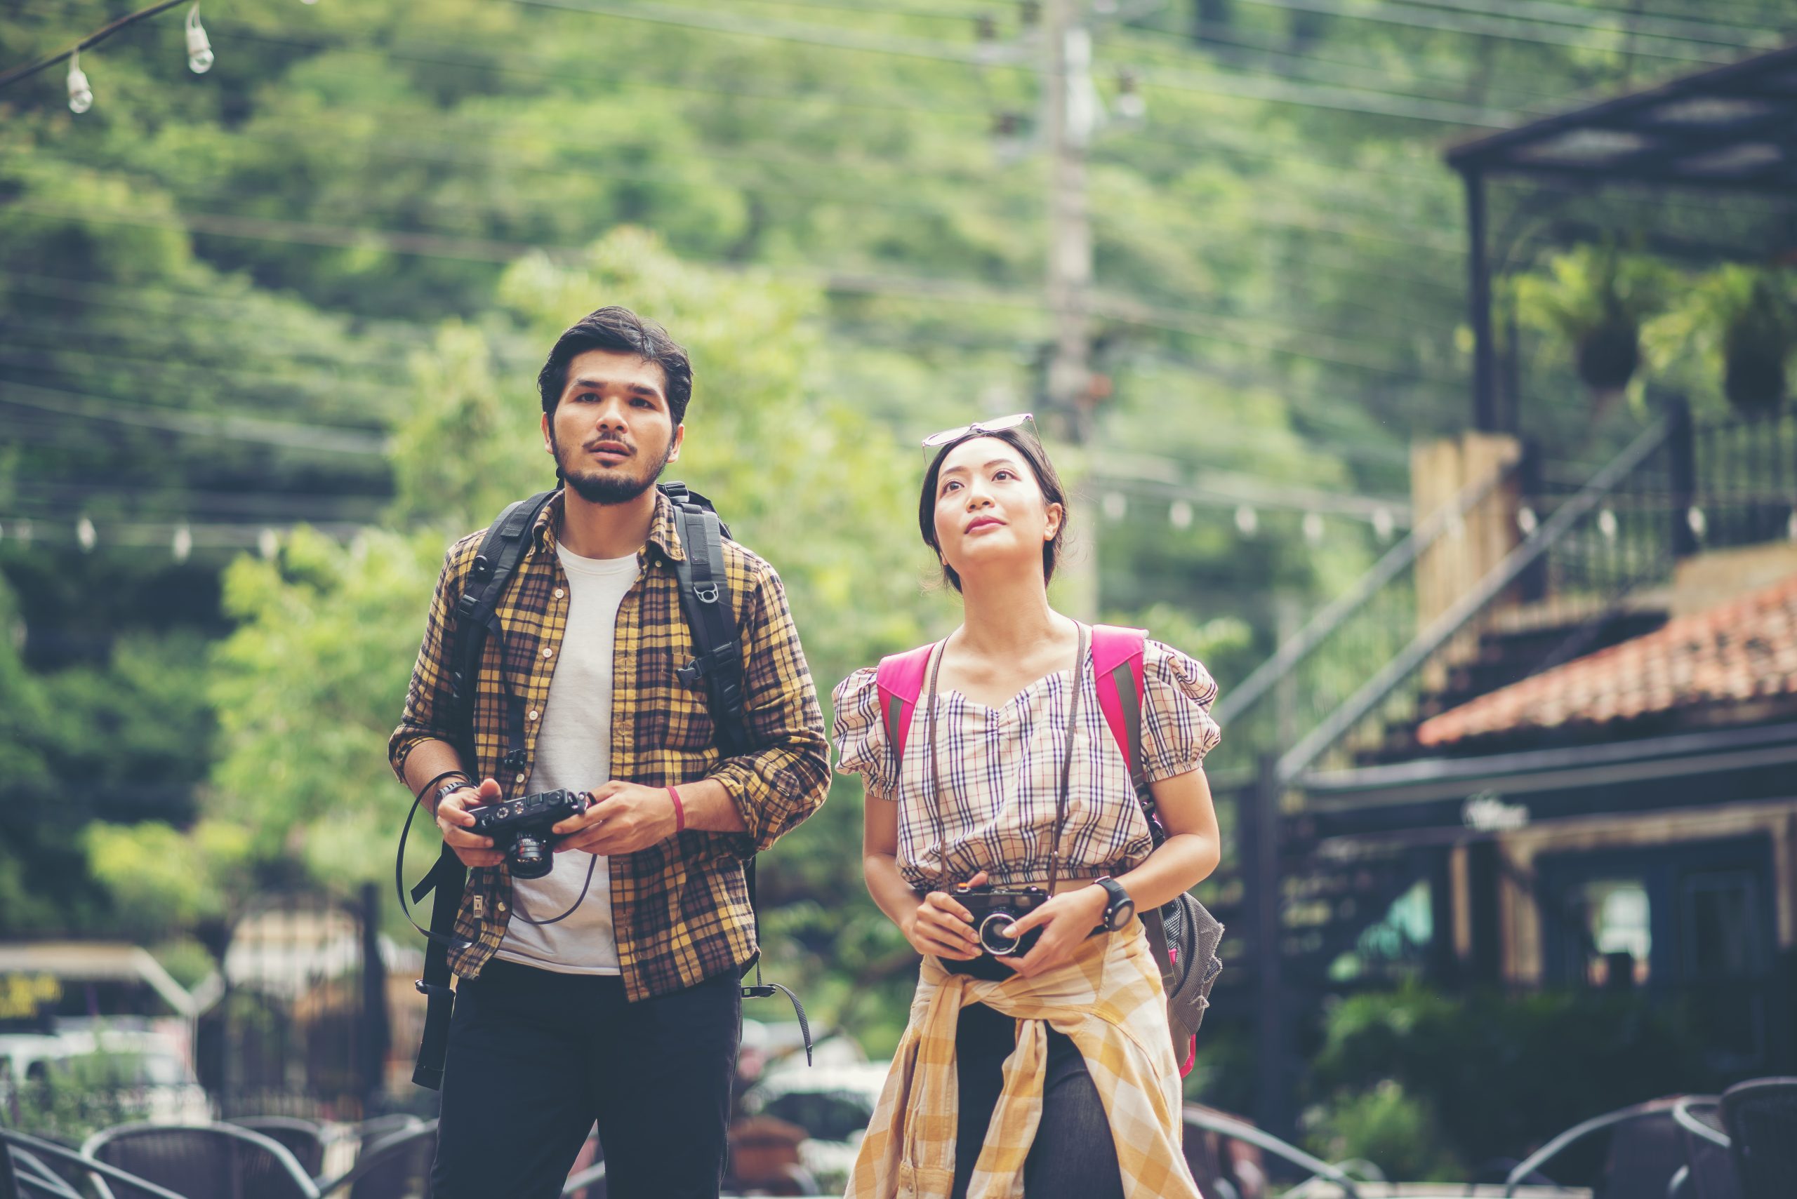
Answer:
[[[1599,398],[1619,395],[1641,366],[1641,321],[1666,293],[1668,267],[1614,244],[1578,246],[1545,273],[1515,282],[1517,318],[1572,350],[1578,377]]]

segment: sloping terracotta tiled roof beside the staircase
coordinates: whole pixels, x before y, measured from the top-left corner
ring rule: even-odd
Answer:
[[[1797,696],[1797,574],[1461,704],[1423,722],[1416,740],[1439,747],[1792,696]]]

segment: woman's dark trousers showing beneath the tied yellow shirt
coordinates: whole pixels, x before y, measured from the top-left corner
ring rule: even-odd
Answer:
[[[974,1163],[987,1142],[992,1109],[1005,1090],[1005,1059],[1017,1046],[1017,1021],[985,1003],[961,1009],[954,1027],[954,1068],[960,1109],[954,1129],[954,1194],[967,1197]],[[1098,1084],[1085,1072],[1080,1048],[1048,1030],[1048,1077],[1042,1082],[1042,1124],[1022,1167],[1030,1199],[1123,1199],[1111,1120]]]

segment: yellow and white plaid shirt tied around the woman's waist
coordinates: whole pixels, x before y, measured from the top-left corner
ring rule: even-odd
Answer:
[[[987,982],[924,958],[911,1021],[848,1176],[846,1199],[940,1199],[954,1186],[960,1102],[954,1030],[961,1007],[987,1003],[1017,1020],[1017,1048],[979,1149],[967,1199],[1024,1199],[1022,1167],[1042,1120],[1048,1028],[1085,1059],[1111,1122],[1129,1199],[1200,1199],[1181,1151],[1179,1063],[1166,993],[1139,923],[1084,941],[1066,966]]]

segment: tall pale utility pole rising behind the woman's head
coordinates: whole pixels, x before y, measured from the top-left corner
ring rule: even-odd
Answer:
[[[1093,223],[1085,199],[1085,153],[1098,127],[1093,88],[1093,34],[1085,0],[1042,5],[1042,129],[1048,142],[1048,309],[1053,346],[1048,359],[1048,420],[1060,476],[1067,485],[1071,521],[1067,553],[1057,569],[1058,603],[1078,619],[1098,617],[1098,506],[1085,494],[1091,467],[1093,332],[1087,318],[1093,285]]]

